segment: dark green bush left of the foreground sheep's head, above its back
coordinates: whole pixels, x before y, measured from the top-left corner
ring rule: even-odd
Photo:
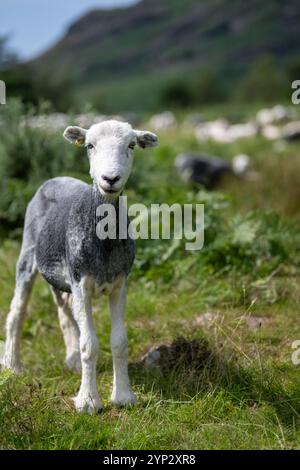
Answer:
[[[34,129],[19,100],[1,107],[0,125],[0,219],[5,225],[21,226],[25,208],[45,180],[62,174],[80,174],[87,162],[82,152],[64,142],[51,129]]]

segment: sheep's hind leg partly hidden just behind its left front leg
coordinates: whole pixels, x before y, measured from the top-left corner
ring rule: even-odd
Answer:
[[[79,329],[70,306],[71,295],[57,289],[52,289],[52,293],[66,345],[65,365],[67,369],[79,372],[81,370]]]

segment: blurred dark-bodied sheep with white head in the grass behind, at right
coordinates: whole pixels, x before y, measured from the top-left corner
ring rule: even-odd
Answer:
[[[249,167],[249,157],[237,155],[230,165],[218,157],[181,154],[175,159],[175,167],[184,181],[202,184],[206,189],[213,189],[226,174],[244,175]]]

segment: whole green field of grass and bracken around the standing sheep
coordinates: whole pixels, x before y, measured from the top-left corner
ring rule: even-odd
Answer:
[[[154,152],[138,152],[129,199],[204,202],[206,239],[199,253],[138,241],[127,315],[137,406],[110,406],[110,322],[101,298],[94,310],[105,410],[75,413],[69,397],[80,377],[63,367],[55,307],[38,279],[22,336],[25,372],[0,374],[1,449],[300,447],[300,365],[291,360],[300,339],[300,146],[279,149],[261,137],[199,143],[183,128],[160,140]],[[183,150],[228,160],[247,153],[256,176],[197,193],[172,167]],[[18,232],[0,245],[0,339],[19,247]],[[152,346],[172,343],[175,363],[145,369],[141,358]]]

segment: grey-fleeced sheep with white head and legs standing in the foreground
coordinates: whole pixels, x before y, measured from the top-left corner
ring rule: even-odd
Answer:
[[[135,402],[128,378],[124,326],[126,278],[134,260],[134,241],[130,237],[100,240],[96,209],[109,202],[118,211],[135,145],[153,147],[157,137],[114,120],[95,124],[89,130],[67,127],[63,135],[87,148],[93,184],[54,178],[39,188],[28,205],[2,365],[21,371],[21,328],[36,273],[40,272],[50,284],[58,307],[66,365],[82,369],[80,390],[73,398],[75,407],[94,412],[102,406],[96,385],[98,341],[91,311],[94,287],[109,294],[114,368],[111,401],[116,405]]]

